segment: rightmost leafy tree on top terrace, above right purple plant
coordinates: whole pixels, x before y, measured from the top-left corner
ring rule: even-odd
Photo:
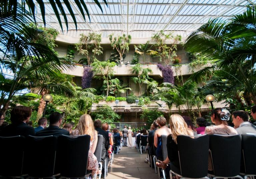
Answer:
[[[165,34],[164,31],[161,30],[154,34],[152,40],[156,41],[156,44],[154,45],[156,50],[149,50],[149,55],[158,57],[160,62],[164,61],[166,65],[169,65],[169,63],[177,57],[177,44],[181,41],[181,36],[174,36],[172,33]],[[172,40],[173,43],[170,46],[167,46],[165,44],[166,40]]]

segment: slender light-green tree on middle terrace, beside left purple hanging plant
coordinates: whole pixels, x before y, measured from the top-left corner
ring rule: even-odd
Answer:
[[[95,60],[92,63],[92,66],[93,66],[92,70],[96,74],[101,75],[99,78],[102,78],[104,80],[103,84],[106,84],[107,96],[108,96],[109,89],[110,89],[109,81],[114,76],[114,66],[115,65],[116,64],[114,62],[109,62],[109,61],[100,62],[98,60]]]

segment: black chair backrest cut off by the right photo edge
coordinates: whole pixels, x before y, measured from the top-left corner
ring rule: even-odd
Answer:
[[[256,134],[242,135],[242,162],[246,174],[256,175],[254,155],[256,148]]]

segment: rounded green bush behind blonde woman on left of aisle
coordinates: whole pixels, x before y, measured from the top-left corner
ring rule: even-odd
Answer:
[[[99,119],[101,120],[102,123],[107,122],[107,123],[113,123],[113,122],[119,122],[120,116],[114,112],[111,107],[107,105],[103,105],[100,107],[97,107],[96,112],[92,112],[91,116],[93,117],[94,120]]]

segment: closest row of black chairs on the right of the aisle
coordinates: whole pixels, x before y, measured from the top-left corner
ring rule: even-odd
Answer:
[[[167,136],[161,136],[163,159],[167,157]],[[180,167],[172,173],[185,178],[241,178],[256,176],[254,150],[256,134],[246,135],[199,135],[177,137]],[[210,151],[210,153],[209,153]],[[208,171],[208,159],[213,171]],[[154,156],[154,163],[157,160]],[[157,160],[161,162],[159,159]],[[165,170],[162,170],[165,179]],[[157,172],[156,172],[157,173]],[[158,168],[158,175],[160,171]]]

